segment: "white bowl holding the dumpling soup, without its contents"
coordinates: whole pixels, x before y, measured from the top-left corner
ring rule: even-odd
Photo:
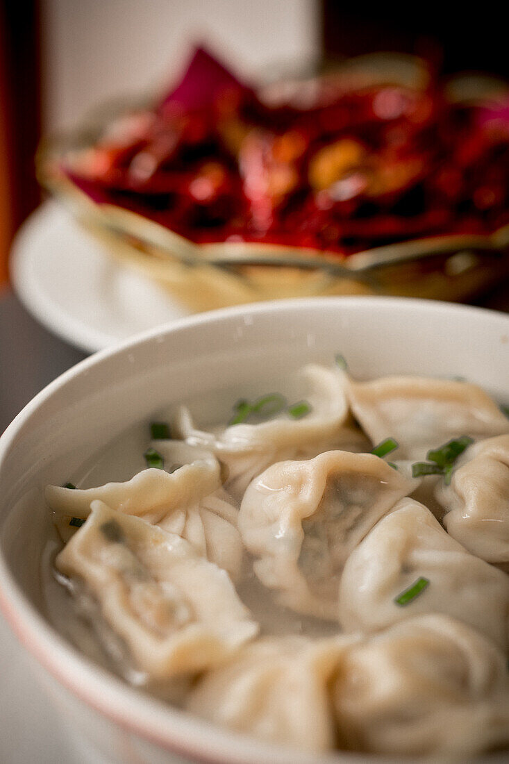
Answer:
[[[46,484],[69,480],[130,422],[189,397],[206,406],[218,389],[264,392],[289,368],[338,353],[358,377],[460,375],[509,402],[509,316],[413,299],[316,298],[193,316],[102,351],[39,393],[0,439],[0,606],[68,724],[112,762],[359,761],[267,746],[128,687],[53,629],[41,593]]]

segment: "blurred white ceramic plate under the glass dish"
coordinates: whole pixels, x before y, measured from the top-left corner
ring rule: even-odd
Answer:
[[[189,314],[156,284],[106,256],[53,201],[18,231],[11,280],[37,320],[89,352]]]

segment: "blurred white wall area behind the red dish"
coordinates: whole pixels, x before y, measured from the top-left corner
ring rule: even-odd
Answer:
[[[246,75],[319,50],[314,0],[42,0],[44,131],[171,83],[194,41]]]

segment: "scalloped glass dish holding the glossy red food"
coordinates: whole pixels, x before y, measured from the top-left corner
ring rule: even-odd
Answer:
[[[377,54],[348,60],[329,76],[353,83],[419,86],[420,60]],[[277,99],[312,79],[267,86]],[[507,86],[484,76],[449,81],[456,101],[507,97]],[[37,158],[44,187],[61,199],[105,251],[164,286],[193,311],[300,296],[378,294],[462,301],[509,274],[509,225],[490,235],[435,235],[349,254],[258,242],[196,244],[120,206],[93,201],[63,172],[66,157],[92,147],[105,125],[132,104],[106,108],[83,128],[47,141]]]

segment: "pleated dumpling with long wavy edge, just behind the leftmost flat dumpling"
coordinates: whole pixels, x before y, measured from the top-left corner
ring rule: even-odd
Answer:
[[[46,500],[56,513],[63,539],[71,535],[72,518],[86,518],[92,500],[99,499],[118,512],[178,533],[200,554],[238,578],[243,555],[238,510],[222,490],[219,462],[210,452],[183,442],[157,441],[157,449],[175,471],[149,468],[125,483],[84,490],[48,486]]]

